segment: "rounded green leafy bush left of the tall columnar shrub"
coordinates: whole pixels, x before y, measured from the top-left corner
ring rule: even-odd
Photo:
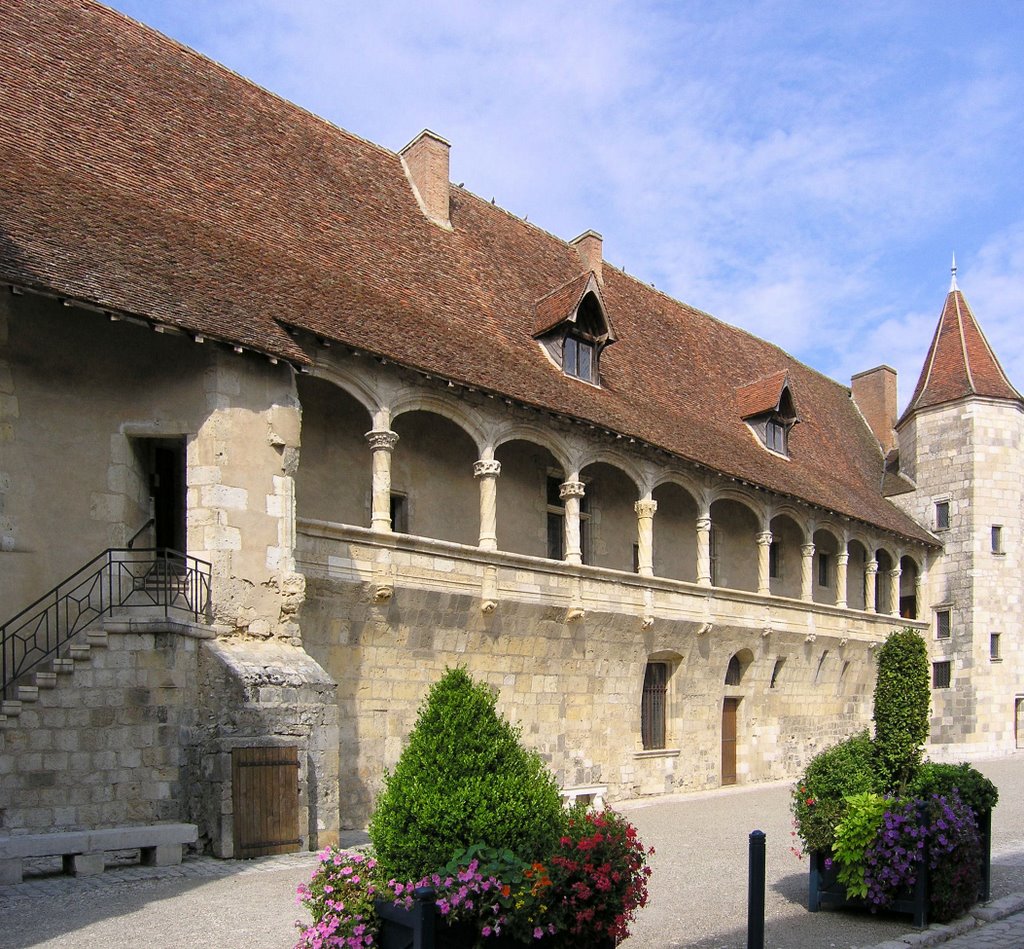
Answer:
[[[835,827],[846,814],[846,799],[881,790],[874,773],[874,750],[860,732],[816,754],[793,791],[796,832],[804,850],[831,851]]]

